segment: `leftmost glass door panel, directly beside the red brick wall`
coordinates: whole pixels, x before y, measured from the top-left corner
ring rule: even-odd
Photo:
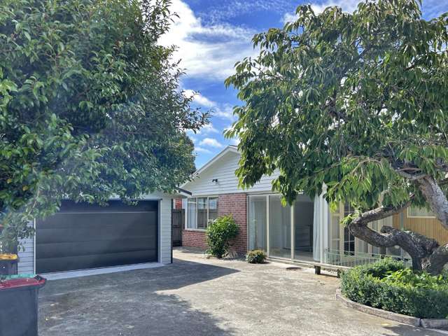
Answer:
[[[249,196],[248,245],[249,250],[267,251],[267,196]]]

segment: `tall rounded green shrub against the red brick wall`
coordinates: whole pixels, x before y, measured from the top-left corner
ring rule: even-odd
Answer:
[[[231,215],[216,218],[207,227],[207,253],[223,258],[228,253],[230,240],[238,235],[238,225]]]

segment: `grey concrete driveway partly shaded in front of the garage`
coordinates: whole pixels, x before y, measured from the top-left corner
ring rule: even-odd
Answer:
[[[174,264],[48,281],[41,336],[443,335],[342,307],[339,280],[174,251]]]

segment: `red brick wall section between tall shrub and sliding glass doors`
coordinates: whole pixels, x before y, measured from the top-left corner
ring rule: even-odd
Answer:
[[[232,241],[232,249],[237,253],[247,252],[247,197],[246,194],[219,195],[218,215],[232,214],[239,226],[237,238]]]

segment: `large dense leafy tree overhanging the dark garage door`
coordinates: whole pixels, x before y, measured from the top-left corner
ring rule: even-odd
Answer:
[[[0,5],[0,236],[62,198],[104,204],[171,192],[195,170],[186,130],[207,123],[158,45],[168,0],[3,0]]]

